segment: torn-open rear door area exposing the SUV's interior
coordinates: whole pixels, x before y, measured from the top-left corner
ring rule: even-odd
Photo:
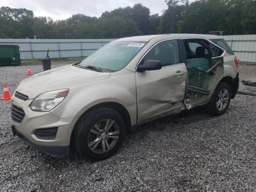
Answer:
[[[210,94],[216,76],[223,74],[223,58],[218,58],[223,50],[204,39],[186,39],[183,42],[188,70],[187,98],[197,102]]]

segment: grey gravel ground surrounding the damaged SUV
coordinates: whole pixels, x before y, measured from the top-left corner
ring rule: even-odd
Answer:
[[[0,67],[0,84],[12,94],[26,70]],[[239,70],[240,80],[256,81],[256,66]],[[74,151],[52,158],[27,146],[12,136],[9,107],[0,101],[0,191],[256,191],[255,97],[237,95],[219,117],[200,108],[138,126],[100,162]]]

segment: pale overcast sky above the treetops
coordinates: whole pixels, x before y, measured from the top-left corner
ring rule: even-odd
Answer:
[[[151,14],[161,15],[162,11],[167,9],[164,0],[0,0],[0,7],[26,8],[32,10],[35,16],[62,20],[78,13],[100,17],[102,12],[133,6],[136,3],[150,8]]]

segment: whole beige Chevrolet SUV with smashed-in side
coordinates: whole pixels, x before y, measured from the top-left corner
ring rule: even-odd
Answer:
[[[163,34],[115,40],[73,65],[18,84],[12,132],[67,157],[101,160],[137,125],[196,106],[223,114],[238,90],[238,59],[220,37]]]

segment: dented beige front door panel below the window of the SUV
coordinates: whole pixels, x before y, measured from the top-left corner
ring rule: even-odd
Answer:
[[[177,76],[177,73],[184,74]],[[138,124],[180,112],[186,88],[184,63],[136,73]],[[176,75],[176,76],[175,76]]]

